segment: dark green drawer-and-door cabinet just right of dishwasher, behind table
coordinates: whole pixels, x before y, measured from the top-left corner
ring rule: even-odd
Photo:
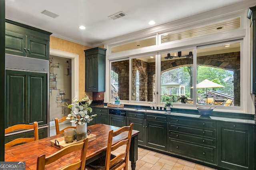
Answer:
[[[144,114],[128,112],[126,117],[126,125],[133,123],[133,128],[140,131],[138,134],[138,144],[145,145],[145,119]]]

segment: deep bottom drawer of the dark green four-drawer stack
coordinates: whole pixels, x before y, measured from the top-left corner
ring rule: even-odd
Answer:
[[[169,151],[190,158],[206,161],[215,164],[216,148],[201,147],[190,143],[183,143],[169,139]]]

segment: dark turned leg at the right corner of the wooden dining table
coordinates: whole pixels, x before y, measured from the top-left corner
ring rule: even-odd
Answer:
[[[129,152],[129,160],[131,161],[132,170],[135,170],[136,161],[138,160],[138,135],[132,137]]]

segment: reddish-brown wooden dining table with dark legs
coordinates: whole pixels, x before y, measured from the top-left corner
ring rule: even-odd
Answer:
[[[88,149],[86,152],[86,164],[100,158],[106,154],[107,142],[108,142],[108,132],[111,130],[117,130],[120,127],[96,124],[88,126],[91,133],[96,135],[96,139],[88,143]],[[132,131],[132,140],[130,145],[129,160],[131,161],[132,170],[135,170],[136,161],[138,160],[138,133],[139,131]],[[118,141],[127,137],[128,133],[120,134],[118,137],[113,138],[113,143],[118,143]],[[58,148],[51,145],[52,140],[63,137],[64,134],[54,135],[38,141],[33,141],[30,143],[24,143],[14,147],[5,149],[4,157],[5,162],[25,162],[26,170],[36,170],[36,162],[38,156],[45,154],[49,156],[57,152]],[[80,159],[81,152],[72,152],[58,161],[46,166],[46,169],[57,170],[60,167],[70,164],[70,160]]]

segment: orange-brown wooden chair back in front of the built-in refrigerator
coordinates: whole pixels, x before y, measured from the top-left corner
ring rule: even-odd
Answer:
[[[21,130],[21,129],[34,129],[34,137],[22,137],[22,138],[14,139],[13,141],[10,141],[10,142],[4,144],[4,148],[10,148],[17,144],[28,143],[28,142],[38,140],[38,123],[37,123],[37,121],[34,121],[34,123],[32,125],[26,125],[26,124],[13,125],[11,127],[6,128],[4,133],[7,134],[12,131],[17,131],[17,130]]]

